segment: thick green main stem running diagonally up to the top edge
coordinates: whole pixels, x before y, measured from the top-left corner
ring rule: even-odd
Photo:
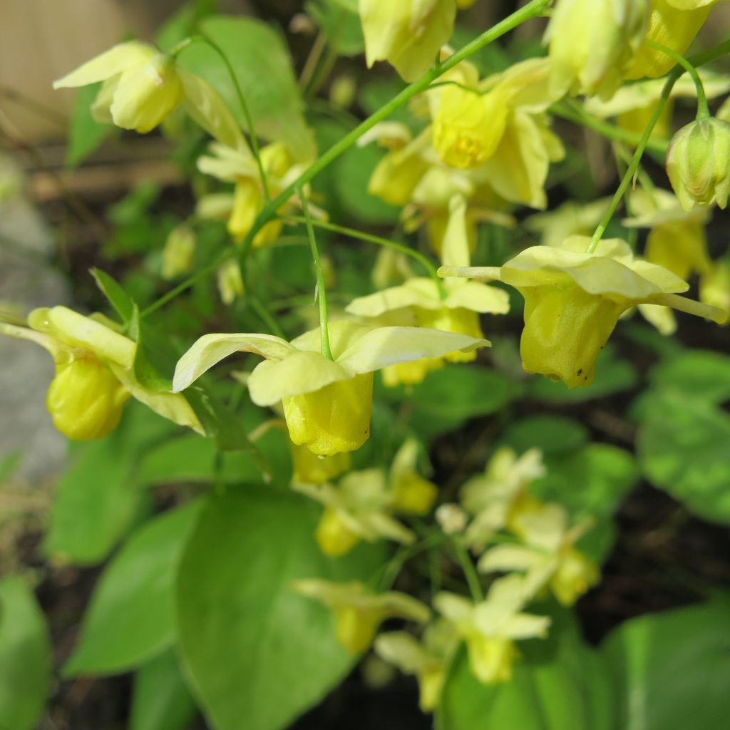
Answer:
[[[431,82],[435,81],[447,71],[450,71],[450,69],[453,69],[454,66],[460,64],[465,58],[469,58],[469,56],[476,53],[477,50],[482,49],[485,45],[488,45],[499,37],[502,37],[505,33],[511,31],[512,28],[516,28],[526,20],[541,15],[542,11],[545,10],[551,2],[552,0],[531,0],[531,2],[520,8],[517,12],[513,12],[512,15],[504,18],[501,23],[497,23],[496,26],[489,28],[488,31],[485,31],[479,37],[475,38],[471,43],[467,43],[463,48],[456,51],[456,53],[443,61],[442,64],[427,71],[422,77],[420,77],[420,79],[418,79],[418,81],[415,81],[404,88],[401,93],[394,96],[391,101],[388,101],[388,104],[380,107],[377,112],[374,112],[374,114],[361,122],[353,129],[353,131],[345,134],[345,137],[342,137],[339,142],[335,142],[335,144],[332,145],[326,153],[307,168],[296,180],[294,180],[293,183],[291,183],[291,185],[284,188],[284,190],[281,191],[276,198],[266,204],[264,210],[262,210],[258,215],[258,218],[256,218],[253,228],[251,228],[242,243],[240,250],[241,257],[245,258],[248,255],[248,251],[253,244],[255,235],[263,226],[266,225],[266,223],[269,222],[269,220],[274,217],[277,210],[279,210],[279,208],[282,207],[282,205],[285,204],[285,202],[288,201],[294,193],[296,193],[297,189],[301,188],[302,185],[309,183],[312,178],[316,177],[323,169],[342,155],[342,153],[349,150],[350,147],[352,147],[358,139],[366,133],[366,131],[369,131],[377,123],[388,118],[393,112],[400,109],[400,107],[404,106],[407,101],[412,99],[413,96],[421,93],[422,91],[426,91],[426,89],[429,88],[429,85],[431,85]]]

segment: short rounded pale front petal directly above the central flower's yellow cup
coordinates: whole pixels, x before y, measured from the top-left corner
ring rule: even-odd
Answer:
[[[353,373],[320,353],[294,350],[283,360],[259,363],[248,379],[251,400],[257,406],[272,406],[283,398],[312,393]]]

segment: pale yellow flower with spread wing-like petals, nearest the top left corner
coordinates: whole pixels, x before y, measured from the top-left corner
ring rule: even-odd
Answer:
[[[245,144],[223,99],[204,80],[175,65],[172,56],[137,41],[120,43],[53,83],[53,88],[103,81],[91,107],[101,123],[148,132],[177,107],[224,145]]]

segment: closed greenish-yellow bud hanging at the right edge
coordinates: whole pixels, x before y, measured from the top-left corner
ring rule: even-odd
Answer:
[[[724,208],[730,194],[730,123],[699,119],[672,138],[666,173],[684,210],[694,204]]]

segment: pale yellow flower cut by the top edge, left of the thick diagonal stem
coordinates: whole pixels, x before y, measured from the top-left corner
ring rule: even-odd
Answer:
[[[434,64],[453,33],[456,0],[359,0],[368,68],[388,61],[406,81]]]

